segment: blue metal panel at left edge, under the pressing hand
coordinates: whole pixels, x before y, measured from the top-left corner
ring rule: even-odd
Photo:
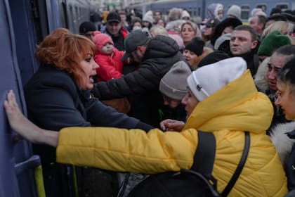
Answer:
[[[7,91],[13,89],[20,108],[24,110],[25,100],[22,94],[13,20],[8,0],[0,1],[0,15],[1,106],[3,106]],[[27,141],[13,140],[15,134],[8,125],[3,107],[0,108],[0,117],[0,196],[37,196],[32,172],[19,170],[17,174],[15,170],[15,163],[29,158],[31,154],[29,144]]]

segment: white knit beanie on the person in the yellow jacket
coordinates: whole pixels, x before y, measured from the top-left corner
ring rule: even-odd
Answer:
[[[247,70],[243,58],[227,58],[198,68],[188,77],[188,87],[199,101],[214,94]]]

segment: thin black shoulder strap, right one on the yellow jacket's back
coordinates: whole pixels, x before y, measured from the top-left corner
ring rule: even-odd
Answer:
[[[242,153],[242,158],[240,160],[239,165],[237,165],[237,169],[235,170],[235,173],[232,175],[232,178],[230,179],[230,182],[228,182],[228,185],[225,187],[223,192],[221,193],[221,196],[228,196],[228,193],[232,190],[232,187],[235,185],[235,182],[237,182],[237,179],[239,178],[244,164],[246,163],[248,153],[250,148],[250,135],[249,132],[245,132],[245,144],[244,144],[244,151]]]

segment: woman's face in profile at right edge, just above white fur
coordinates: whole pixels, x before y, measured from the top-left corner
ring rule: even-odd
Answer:
[[[275,105],[280,106],[287,120],[295,120],[295,92],[289,84],[277,80]]]

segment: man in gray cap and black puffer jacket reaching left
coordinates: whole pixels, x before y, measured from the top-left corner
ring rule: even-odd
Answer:
[[[159,112],[165,108],[159,82],[174,63],[185,58],[173,39],[160,35],[151,39],[141,30],[129,33],[125,49],[122,60],[130,58],[139,64],[138,70],[117,80],[94,84],[92,92],[100,100],[127,96],[131,102],[129,115],[159,127]]]

